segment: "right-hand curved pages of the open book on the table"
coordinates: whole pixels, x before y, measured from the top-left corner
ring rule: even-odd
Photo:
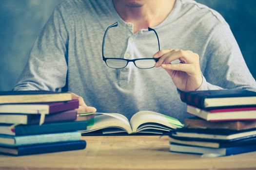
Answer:
[[[177,127],[182,127],[183,125],[175,118],[157,113],[152,111],[140,111],[136,113],[130,120],[130,124],[133,132],[137,132],[138,127],[144,123],[147,123],[149,126],[150,123],[154,126],[158,126],[158,124],[162,124],[172,129],[176,129]],[[158,124],[156,124],[158,123]],[[158,128],[162,126],[159,125]],[[144,127],[145,128],[145,127]],[[141,129],[140,129],[141,130]],[[146,130],[146,128],[145,128]]]

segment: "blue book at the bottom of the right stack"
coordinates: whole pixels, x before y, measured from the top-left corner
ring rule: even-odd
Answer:
[[[256,151],[256,143],[251,145],[217,148],[217,149],[171,143],[170,151],[178,152],[178,153],[212,154],[215,156],[228,156],[228,155],[234,155],[234,154],[240,154],[240,153],[254,152]]]

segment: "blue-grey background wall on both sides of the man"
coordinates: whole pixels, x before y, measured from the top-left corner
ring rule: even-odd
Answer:
[[[62,0],[0,0],[0,91],[11,90],[31,47]],[[197,0],[230,24],[247,66],[256,78],[256,0]]]

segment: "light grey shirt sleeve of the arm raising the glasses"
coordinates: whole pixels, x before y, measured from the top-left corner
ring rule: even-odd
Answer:
[[[198,90],[220,87],[256,89],[256,81],[246,66],[236,39],[227,24],[219,26],[211,35],[205,57],[205,77]]]

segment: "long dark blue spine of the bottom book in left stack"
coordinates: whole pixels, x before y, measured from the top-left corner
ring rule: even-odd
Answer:
[[[63,142],[63,143],[51,143],[43,145],[32,145],[18,148],[18,155],[29,155],[39,153],[53,153],[62,151],[74,151],[85,149],[86,142],[84,140]]]

